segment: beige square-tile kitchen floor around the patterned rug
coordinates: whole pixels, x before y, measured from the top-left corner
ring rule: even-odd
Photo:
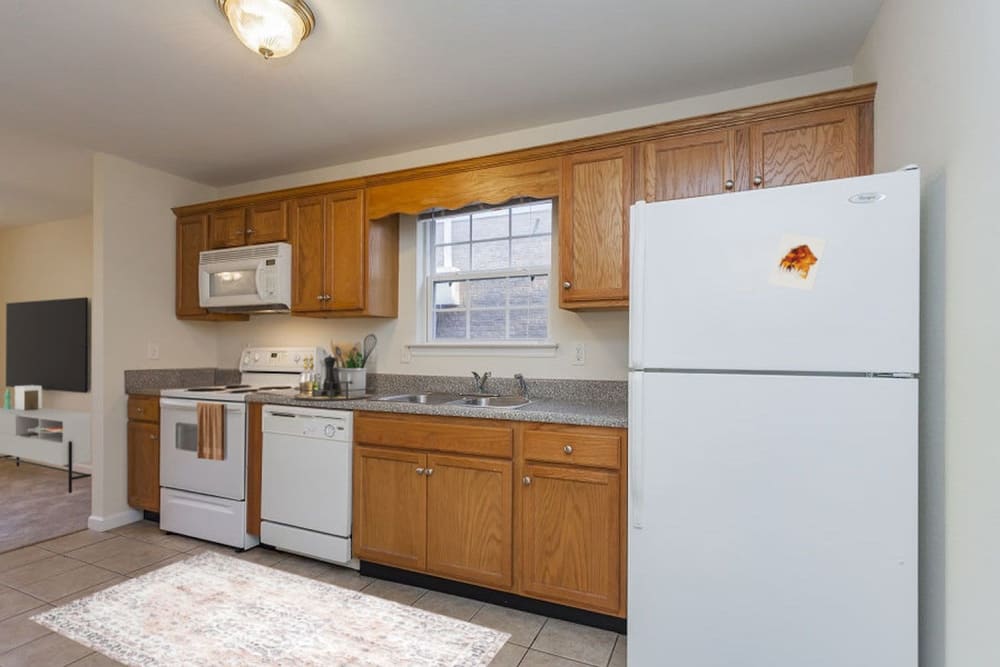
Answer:
[[[168,535],[155,523],[142,521],[108,533],[82,531],[0,553],[0,667],[117,665],[29,618],[205,549],[509,632],[510,641],[493,661],[497,667],[625,666],[625,637],[614,632],[370,579],[353,570],[268,549],[236,554],[218,545]]]

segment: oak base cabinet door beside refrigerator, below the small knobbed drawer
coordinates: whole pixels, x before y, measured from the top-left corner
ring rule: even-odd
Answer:
[[[619,473],[541,465],[525,465],[523,473],[521,592],[617,613]]]

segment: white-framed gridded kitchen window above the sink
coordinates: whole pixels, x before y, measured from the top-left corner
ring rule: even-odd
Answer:
[[[545,341],[552,201],[421,216],[431,343]]]

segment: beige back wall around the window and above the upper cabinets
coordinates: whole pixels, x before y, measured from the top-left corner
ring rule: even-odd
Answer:
[[[852,84],[853,78],[850,68],[829,70],[678,102],[244,183],[222,188],[219,194],[220,196],[235,196],[477,155],[488,155],[688,116],[773,102]],[[247,344],[328,346],[331,338],[359,341],[365,333],[372,331],[379,337],[379,350],[375,366],[380,372],[465,375],[475,368],[477,370],[490,370],[496,375],[508,377],[514,373],[522,372],[529,377],[625,379],[628,363],[627,313],[619,311],[577,314],[563,311],[555,306],[555,294],[552,295],[553,306],[550,310],[550,337],[559,344],[559,349],[554,357],[529,358],[523,355],[485,356],[482,354],[444,357],[414,356],[411,363],[402,363],[402,348],[404,345],[416,341],[418,328],[416,318],[416,225],[414,221],[404,221],[400,232],[398,319],[366,318],[317,321],[308,318],[272,315],[255,316],[247,323],[217,325],[219,358],[222,363],[230,366],[235,365],[239,350]],[[572,347],[577,342],[582,342],[586,346],[587,361],[583,366],[574,366],[570,363]]]

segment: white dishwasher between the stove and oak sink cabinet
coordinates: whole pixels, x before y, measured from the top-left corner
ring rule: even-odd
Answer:
[[[354,415],[264,406],[260,540],[357,567],[351,559]]]

